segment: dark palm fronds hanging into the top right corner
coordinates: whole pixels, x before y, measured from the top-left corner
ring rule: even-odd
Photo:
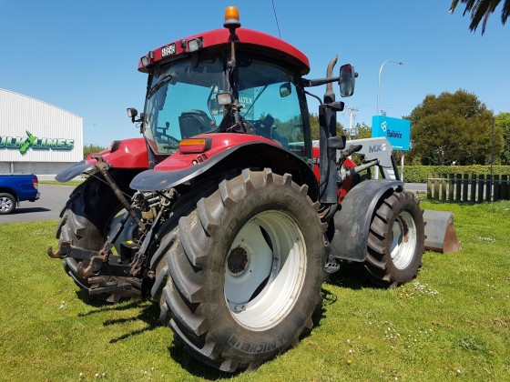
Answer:
[[[489,16],[495,12],[495,8],[501,2],[501,0],[452,0],[450,5],[450,13],[454,13],[455,8],[459,5],[459,2],[465,4],[464,14],[471,13],[471,24],[469,30],[472,32],[476,31],[476,28],[482,21],[482,35],[485,32],[485,26]],[[510,0],[505,0],[503,9],[501,10],[501,23],[505,25],[506,19],[510,15]]]

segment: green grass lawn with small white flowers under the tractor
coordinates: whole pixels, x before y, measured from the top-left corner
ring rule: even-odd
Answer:
[[[454,211],[462,251],[427,252],[418,278],[392,290],[342,266],[311,335],[235,376],[189,357],[150,301],[78,292],[46,256],[56,221],[0,225],[0,380],[510,380],[510,202],[422,206]]]

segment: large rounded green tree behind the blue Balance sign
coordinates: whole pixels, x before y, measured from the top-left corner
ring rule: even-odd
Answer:
[[[412,156],[422,165],[485,165],[491,156],[493,113],[476,95],[427,95],[411,119]],[[495,156],[503,150],[503,131],[495,128]]]

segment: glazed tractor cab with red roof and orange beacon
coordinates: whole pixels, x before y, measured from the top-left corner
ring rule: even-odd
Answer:
[[[227,10],[225,29],[141,57],[138,70],[148,73],[145,112],[136,120],[129,108],[128,115],[141,122],[156,164],[178,152],[182,140],[210,133],[267,138],[311,162],[304,91],[310,84],[302,79],[308,58],[279,38],[241,28],[236,12]]]

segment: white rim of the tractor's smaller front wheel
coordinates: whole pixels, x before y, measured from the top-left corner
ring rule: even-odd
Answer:
[[[416,247],[416,226],[413,216],[403,211],[397,216],[392,226],[392,244],[390,251],[393,265],[398,269],[409,266]]]

